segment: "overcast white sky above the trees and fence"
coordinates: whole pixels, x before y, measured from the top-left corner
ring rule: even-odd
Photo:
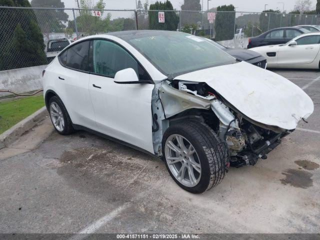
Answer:
[[[76,0],[61,0],[64,2],[65,7],[77,7]],[[96,2],[97,0],[92,0]],[[144,0],[141,0],[144,2]],[[149,0],[149,3],[154,3],[156,0]],[[173,7],[180,9],[181,4],[184,0],[170,0]],[[311,8],[315,8],[316,0],[311,0]],[[106,3],[107,9],[134,9],[135,0],[104,0]],[[200,0],[202,2],[202,0]],[[294,7],[295,0],[210,0],[209,8],[215,7],[223,4],[233,4],[236,8],[236,11],[262,11],[264,10],[264,4],[268,4],[267,8],[282,10],[282,3],[284,2],[284,10],[287,12],[292,10]],[[207,9],[207,0],[203,0],[203,9]]]

